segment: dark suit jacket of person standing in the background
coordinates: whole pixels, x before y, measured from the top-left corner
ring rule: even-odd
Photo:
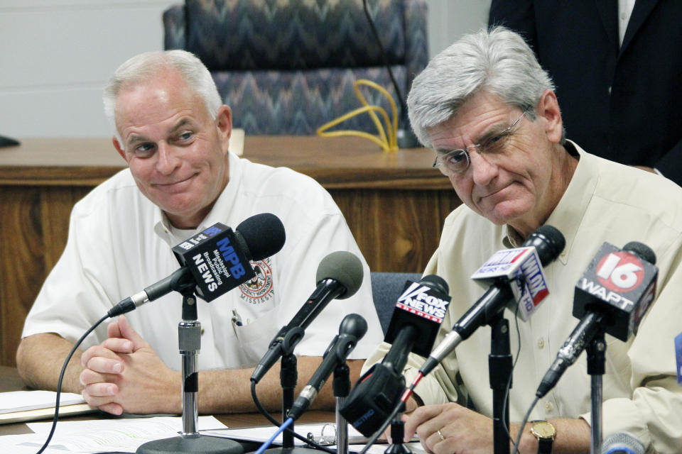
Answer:
[[[567,137],[682,184],[682,1],[637,0],[622,47],[617,0],[492,0],[551,74]]]

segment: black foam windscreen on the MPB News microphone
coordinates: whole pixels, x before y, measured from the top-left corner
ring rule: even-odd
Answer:
[[[278,253],[286,240],[282,221],[271,213],[244,219],[234,230],[241,234],[247,244],[251,260],[263,260]]]

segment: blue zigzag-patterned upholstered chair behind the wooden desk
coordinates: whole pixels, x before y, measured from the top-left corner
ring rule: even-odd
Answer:
[[[426,0],[368,5],[406,96],[428,62]],[[163,24],[166,49],[200,57],[232,107],[234,126],[249,134],[315,133],[361,106],[357,79],[380,84],[398,102],[362,0],[186,0],[163,13]],[[362,93],[390,115],[384,96]],[[367,114],[341,126],[375,132]]]

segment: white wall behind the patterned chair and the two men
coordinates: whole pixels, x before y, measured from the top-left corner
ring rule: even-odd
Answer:
[[[0,0],[0,135],[109,137],[102,87],[128,57],[163,48],[181,0]],[[428,0],[429,53],[485,26],[489,0]]]

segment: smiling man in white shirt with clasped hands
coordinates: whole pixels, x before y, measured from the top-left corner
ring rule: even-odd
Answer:
[[[116,129],[114,148],[128,168],[75,205],[64,254],[26,319],[18,371],[32,387],[55,389],[67,352],[92,323],[178,268],[171,247],[216,222],[237,226],[269,212],[283,222],[286,243],[252,263],[258,281],[197,304],[200,411],[253,411],[252,367],[310,296],[320,260],[336,250],[362,254],[331,196],[313,179],[229,153],[232,111],[189,52],[131,58],[110,79],[104,106]],[[330,304],[295,350],[300,384],[319,365],[345,314],[361,314],[369,324],[348,361],[352,376],[380,341],[369,269],[361,260],[365,278],[357,294]],[[82,392],[112,414],[180,413],[181,304],[179,294],[168,294],[94,331],[67,368],[63,389]],[[258,388],[271,409],[281,406],[277,371]],[[332,402],[327,388],[316,405]]]

